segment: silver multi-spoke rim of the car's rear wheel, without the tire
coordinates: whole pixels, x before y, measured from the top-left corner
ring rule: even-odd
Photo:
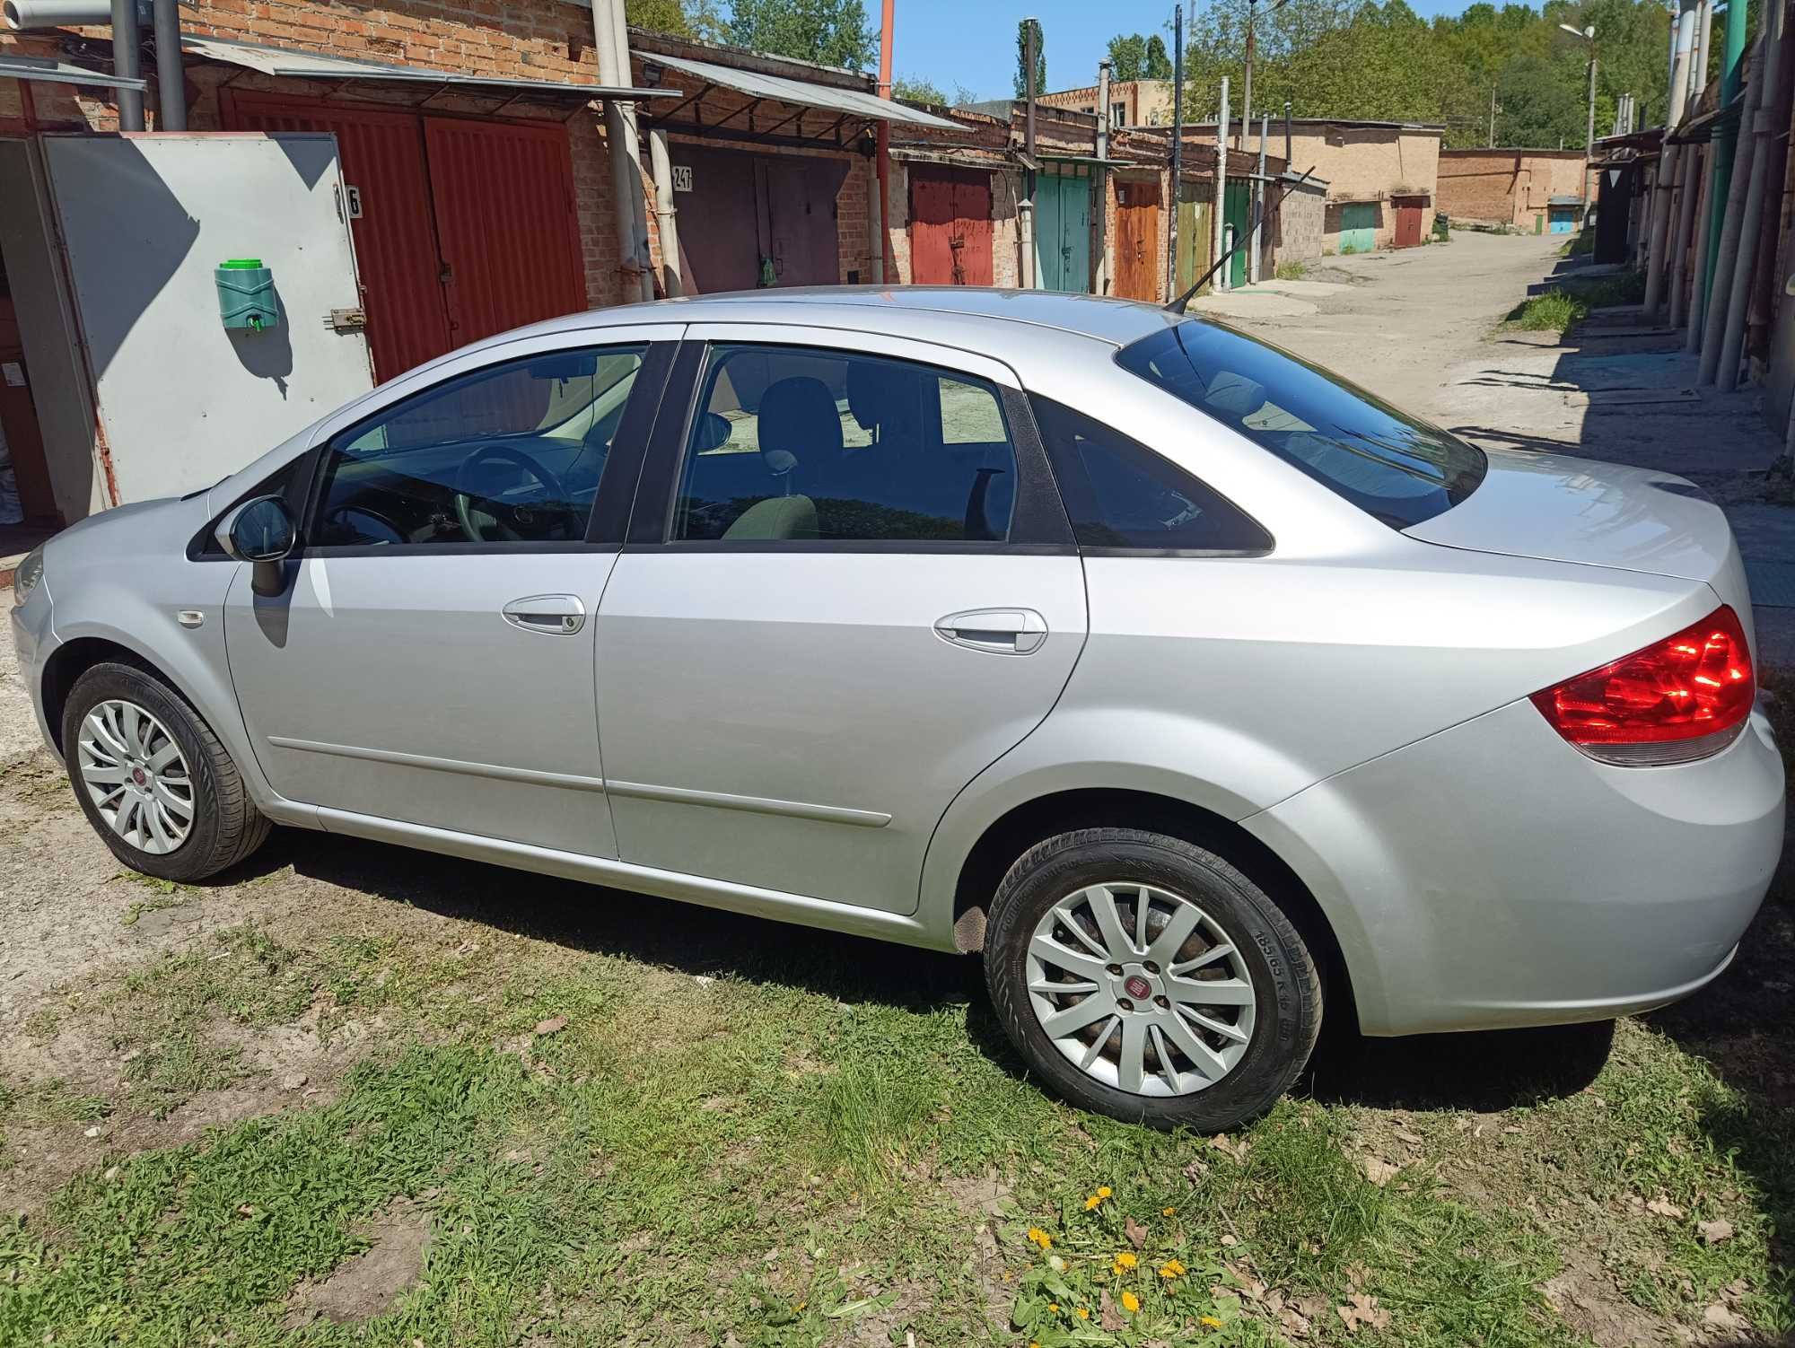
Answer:
[[[1235,942],[1156,885],[1088,885],[1029,941],[1029,1003],[1054,1046],[1131,1095],[1192,1095],[1253,1043],[1253,978]]]

